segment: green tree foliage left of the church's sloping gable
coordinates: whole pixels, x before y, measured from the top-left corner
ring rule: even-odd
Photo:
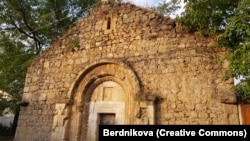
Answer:
[[[21,100],[31,59],[86,16],[98,2],[100,0],[0,1],[0,90],[11,97],[7,100],[0,96],[0,114],[9,108],[18,115],[16,102]]]

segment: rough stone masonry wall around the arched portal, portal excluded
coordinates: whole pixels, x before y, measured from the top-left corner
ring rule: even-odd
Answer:
[[[223,81],[228,64],[217,61],[227,54],[153,11],[103,3],[33,60],[15,139],[50,140],[55,105],[70,101],[79,73],[103,59],[128,65],[141,94],[156,97],[155,124],[238,124],[237,106],[221,102],[234,95],[233,80]]]

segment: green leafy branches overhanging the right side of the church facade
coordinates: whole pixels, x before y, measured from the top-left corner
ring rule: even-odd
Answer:
[[[226,79],[243,77],[236,93],[249,97],[250,87],[250,1],[185,0],[186,11],[178,20],[190,32],[216,35],[218,46],[230,49],[230,70]]]

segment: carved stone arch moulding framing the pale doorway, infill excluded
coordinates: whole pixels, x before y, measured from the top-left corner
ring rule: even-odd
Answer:
[[[112,81],[125,91],[126,115],[124,124],[135,122],[134,97],[140,94],[140,83],[135,72],[124,62],[104,59],[95,61],[79,73],[71,85],[68,97],[71,101],[70,140],[83,140],[87,136],[87,122],[91,96],[97,86]]]

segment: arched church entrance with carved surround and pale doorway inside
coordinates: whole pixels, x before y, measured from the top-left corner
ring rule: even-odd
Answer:
[[[70,89],[70,141],[96,141],[99,124],[134,124],[140,84],[122,62],[102,60],[81,72]]]

